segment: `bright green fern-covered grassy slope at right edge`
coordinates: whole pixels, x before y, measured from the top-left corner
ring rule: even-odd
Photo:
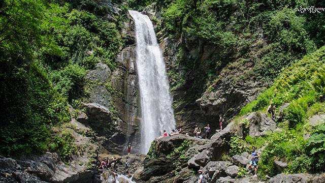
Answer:
[[[282,132],[264,137],[246,137],[243,143],[265,146],[259,173],[275,175],[274,160],[286,161],[288,173],[318,172],[324,170],[325,128],[312,128],[308,117],[325,113],[325,47],[306,55],[285,69],[274,84],[257,99],[241,109],[241,115],[253,111],[265,112],[270,101],[279,109],[289,106],[276,123]],[[304,135],[313,134],[305,140]]]

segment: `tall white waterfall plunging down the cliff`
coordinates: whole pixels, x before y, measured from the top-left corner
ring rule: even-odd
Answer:
[[[163,54],[147,15],[129,10],[136,24],[137,72],[141,97],[141,153],[152,140],[175,129],[172,99]]]

